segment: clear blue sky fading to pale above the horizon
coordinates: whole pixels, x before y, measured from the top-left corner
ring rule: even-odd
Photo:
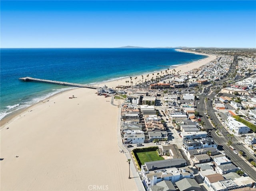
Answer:
[[[256,47],[256,1],[1,0],[1,47]]]

